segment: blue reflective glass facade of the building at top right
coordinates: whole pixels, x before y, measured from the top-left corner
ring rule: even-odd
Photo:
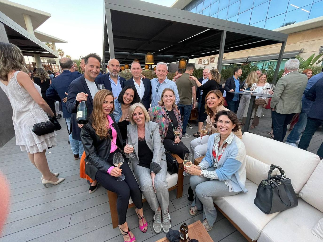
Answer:
[[[323,0],[193,0],[182,10],[266,29],[323,15]]]

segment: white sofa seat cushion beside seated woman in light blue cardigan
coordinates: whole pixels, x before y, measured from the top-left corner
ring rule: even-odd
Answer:
[[[254,204],[258,184],[246,179],[247,193],[239,193],[228,197],[215,197],[214,203],[239,226],[248,237],[257,240],[261,230],[277,213],[264,214]]]

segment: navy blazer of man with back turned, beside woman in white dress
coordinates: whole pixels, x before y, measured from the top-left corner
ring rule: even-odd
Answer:
[[[79,72],[70,72],[69,70],[64,70],[62,74],[56,76],[52,80],[52,84],[46,91],[46,96],[48,98],[62,103],[64,118],[69,118],[71,114],[66,110],[66,103],[64,103],[62,99],[66,97],[65,93],[68,93],[69,84],[71,84],[71,82],[79,76],[82,76],[82,74]]]

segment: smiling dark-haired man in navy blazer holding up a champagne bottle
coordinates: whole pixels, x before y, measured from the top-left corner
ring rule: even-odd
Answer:
[[[77,107],[80,101],[86,101],[88,105],[89,116],[93,111],[93,98],[98,92],[95,78],[99,75],[101,57],[95,53],[85,56],[84,75],[78,77],[68,87],[67,111],[71,116],[71,129],[73,139],[78,140],[79,156],[82,156],[84,148],[81,142],[81,129],[76,119]]]

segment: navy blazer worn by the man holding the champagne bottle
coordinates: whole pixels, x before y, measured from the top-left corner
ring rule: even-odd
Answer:
[[[90,116],[93,111],[93,98],[91,96],[89,87],[86,84],[84,75],[72,81],[68,87],[68,92],[67,92],[68,96],[67,96],[67,102],[66,102],[66,109],[69,113],[72,114],[71,128],[69,129],[69,131],[72,132],[73,139],[77,139],[77,140],[81,140],[81,136],[80,136],[81,129],[78,127],[78,124],[76,121],[76,112],[77,112],[78,103],[79,103],[78,101],[76,101],[76,95],[78,95],[78,93],[80,92],[84,92],[89,95],[86,103],[89,108],[89,116]]]

